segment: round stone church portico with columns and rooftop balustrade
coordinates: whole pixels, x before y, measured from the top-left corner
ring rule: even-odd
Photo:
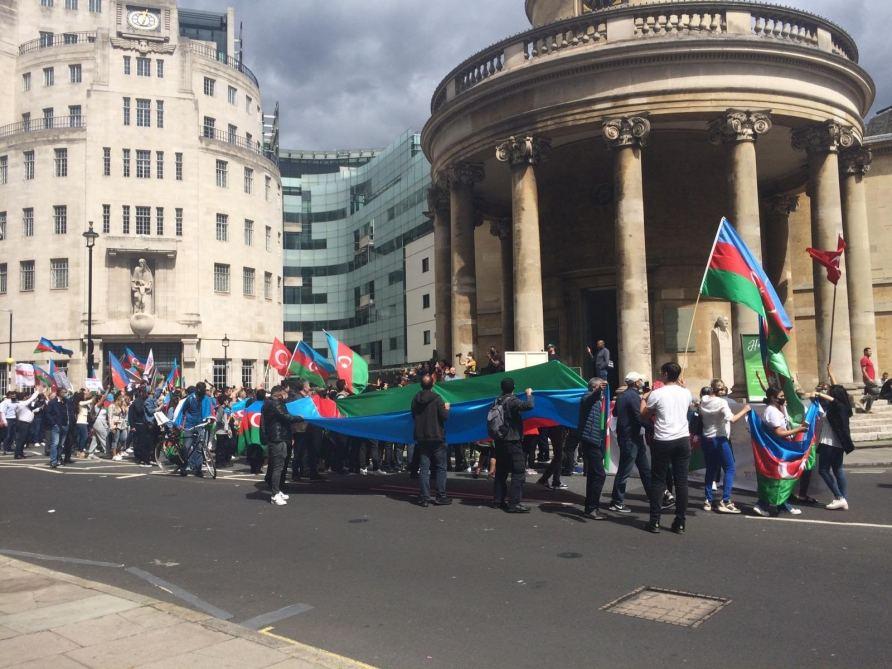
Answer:
[[[548,340],[582,366],[586,345],[605,339],[620,374],[651,376],[685,357],[727,216],[795,316],[787,352],[803,383],[825,366],[833,296],[817,270],[812,289],[804,248],[836,248],[845,231],[833,368],[860,381],[860,351],[876,342],[863,181],[875,89],[852,38],[741,0],[527,0],[526,12],[530,30],[443,80],[422,135],[437,267],[451,267],[437,274],[444,348]],[[501,253],[475,252],[498,248],[491,233]],[[492,301],[503,308],[484,318],[478,305]],[[692,383],[717,374],[722,316],[742,382],[737,335],[755,333],[755,317],[703,301]]]

